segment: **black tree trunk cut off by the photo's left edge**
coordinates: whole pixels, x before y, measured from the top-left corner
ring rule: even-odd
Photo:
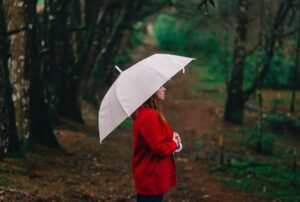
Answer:
[[[3,0],[0,0],[0,160],[10,153],[19,154],[19,143],[9,82],[9,40],[4,19]]]

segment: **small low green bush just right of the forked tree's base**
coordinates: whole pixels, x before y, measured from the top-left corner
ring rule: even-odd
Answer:
[[[259,129],[258,123],[256,123],[246,132],[242,143],[251,150],[272,154],[275,147],[275,136],[265,131],[263,127]]]

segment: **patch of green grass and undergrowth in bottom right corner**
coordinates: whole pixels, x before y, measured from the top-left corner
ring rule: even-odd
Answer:
[[[247,135],[254,128],[240,127],[235,131],[223,131],[225,139],[225,166],[217,166],[212,171],[220,173],[221,182],[234,189],[250,192],[256,196],[285,202],[300,201],[300,170],[293,171],[292,165],[300,150],[290,144],[282,144],[282,137],[266,129],[263,135],[270,138],[262,144],[274,144],[272,152],[258,153],[249,147]],[[289,136],[293,137],[293,136]],[[250,140],[250,142],[253,139]],[[274,141],[274,142],[273,142]],[[280,144],[278,144],[280,143]],[[299,156],[299,155],[298,155]]]

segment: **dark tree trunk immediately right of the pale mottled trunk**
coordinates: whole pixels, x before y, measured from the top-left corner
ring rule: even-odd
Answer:
[[[31,35],[31,50],[34,54],[35,62],[32,64],[32,73],[30,79],[30,140],[47,147],[59,147],[56,137],[53,133],[53,116],[50,114],[50,104],[46,103],[45,86],[47,82],[42,82],[43,63],[38,51],[37,34],[37,16],[35,5],[32,5],[31,11],[33,17],[33,31]],[[42,27],[42,26],[41,26]],[[40,28],[43,30],[43,28]],[[42,33],[41,33],[42,34]],[[41,47],[43,48],[43,47]]]

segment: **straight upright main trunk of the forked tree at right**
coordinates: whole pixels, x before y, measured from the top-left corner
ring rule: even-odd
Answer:
[[[242,123],[244,116],[243,81],[248,24],[247,7],[248,0],[239,0],[234,44],[234,66],[227,86],[227,100],[224,114],[224,120],[231,123]]]

